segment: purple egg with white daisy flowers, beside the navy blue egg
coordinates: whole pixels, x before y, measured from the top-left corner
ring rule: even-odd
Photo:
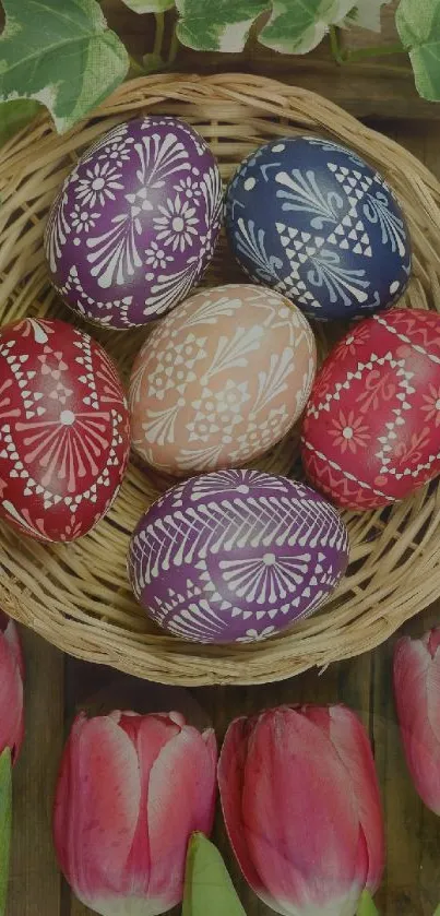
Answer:
[[[119,124],[84,153],[52,205],[52,282],[92,321],[146,324],[202,276],[221,210],[217,164],[189,124],[158,116]]]

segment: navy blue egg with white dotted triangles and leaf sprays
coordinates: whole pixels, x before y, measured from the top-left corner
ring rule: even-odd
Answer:
[[[246,273],[310,318],[384,309],[408,281],[409,235],[391,189],[329,140],[290,136],[248,156],[227,190],[226,228]]]

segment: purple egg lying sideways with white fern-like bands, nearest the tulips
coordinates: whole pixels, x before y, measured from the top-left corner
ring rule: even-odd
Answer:
[[[174,487],[135,528],[129,578],[153,620],[185,640],[253,642],[329,597],[348,562],[336,510],[310,487],[218,471]]]

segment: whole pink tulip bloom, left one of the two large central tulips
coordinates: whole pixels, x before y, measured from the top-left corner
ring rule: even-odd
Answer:
[[[102,916],[156,916],[183,894],[188,841],[210,833],[217,749],[178,713],[76,717],[53,837],[76,896]]]

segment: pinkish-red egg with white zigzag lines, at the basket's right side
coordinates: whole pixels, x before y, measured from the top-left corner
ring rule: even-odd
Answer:
[[[440,473],[440,316],[395,309],[357,324],[320,370],[302,428],[309,480],[376,509]]]

